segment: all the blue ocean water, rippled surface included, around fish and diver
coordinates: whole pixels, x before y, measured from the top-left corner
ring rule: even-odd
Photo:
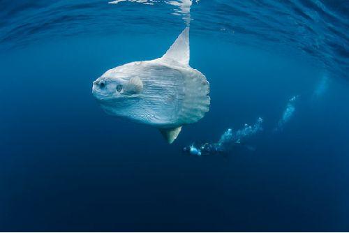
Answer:
[[[349,2],[188,2],[0,1],[1,231],[349,230]],[[169,145],[91,85],[189,22],[211,107]],[[181,152],[258,117],[253,151]]]

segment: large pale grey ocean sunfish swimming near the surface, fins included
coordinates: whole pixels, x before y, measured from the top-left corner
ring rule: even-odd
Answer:
[[[209,111],[209,82],[189,66],[189,53],[187,27],[163,57],[107,70],[92,93],[107,114],[155,126],[172,143]]]

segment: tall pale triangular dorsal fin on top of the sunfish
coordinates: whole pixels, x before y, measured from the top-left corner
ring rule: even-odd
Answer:
[[[189,50],[189,27],[186,27],[177,40],[171,45],[162,59],[165,61],[177,61],[182,65],[189,66],[190,50]]]

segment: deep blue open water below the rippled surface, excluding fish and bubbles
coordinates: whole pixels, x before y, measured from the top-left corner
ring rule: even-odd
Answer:
[[[181,29],[43,38],[2,50],[0,230],[349,230],[348,82],[305,54],[193,30],[191,66],[210,82],[211,109],[171,145],[155,128],[98,107],[91,83],[99,75],[161,57]],[[324,73],[327,91],[314,98]],[[297,94],[295,115],[274,133]],[[181,153],[258,117],[265,130],[251,141],[256,151],[237,149],[228,159]]]

